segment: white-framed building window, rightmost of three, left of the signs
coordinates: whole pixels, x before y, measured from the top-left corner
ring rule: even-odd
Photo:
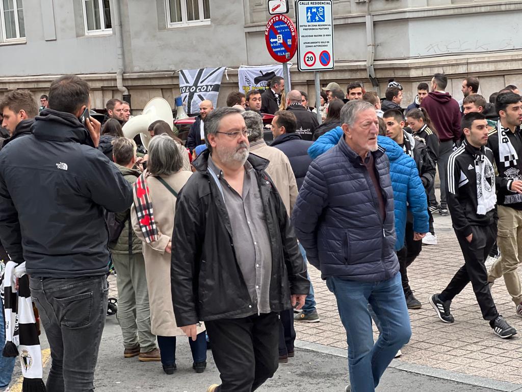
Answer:
[[[209,25],[210,0],[166,0],[169,27]]]

